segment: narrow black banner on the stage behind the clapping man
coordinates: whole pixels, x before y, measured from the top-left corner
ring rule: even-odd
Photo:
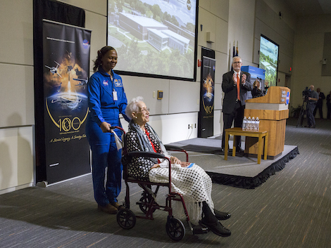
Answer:
[[[198,136],[213,136],[215,65],[213,58],[202,57]]]

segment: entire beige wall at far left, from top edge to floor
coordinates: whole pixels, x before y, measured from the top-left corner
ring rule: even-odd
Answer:
[[[2,0],[0,10],[0,193],[34,178],[32,0]]]

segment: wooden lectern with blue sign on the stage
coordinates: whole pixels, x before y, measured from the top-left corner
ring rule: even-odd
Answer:
[[[260,130],[268,131],[268,159],[275,159],[284,151],[286,119],[289,117],[287,87],[270,86],[266,96],[246,100],[245,117],[258,117]],[[258,154],[257,138],[246,137],[245,152]]]

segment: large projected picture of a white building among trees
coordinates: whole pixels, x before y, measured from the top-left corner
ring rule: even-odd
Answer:
[[[194,78],[196,0],[108,0],[115,70]]]

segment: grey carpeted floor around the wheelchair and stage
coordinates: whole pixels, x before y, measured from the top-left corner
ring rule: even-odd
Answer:
[[[96,210],[91,175],[0,195],[0,247],[183,247],[183,248],[328,248],[331,244],[331,120],[316,129],[287,121],[286,145],[300,154],[254,189],[213,183],[216,209],[230,211],[222,221],[230,237],[213,233],[173,242],[165,233],[166,213],[154,221],[137,219],[123,230],[115,215]],[[197,155],[194,159],[200,157]],[[207,159],[204,159],[205,161]],[[130,185],[132,201],[142,190]],[[118,197],[124,200],[125,186]],[[166,189],[158,197],[164,199]],[[132,204],[132,211],[139,207]]]

